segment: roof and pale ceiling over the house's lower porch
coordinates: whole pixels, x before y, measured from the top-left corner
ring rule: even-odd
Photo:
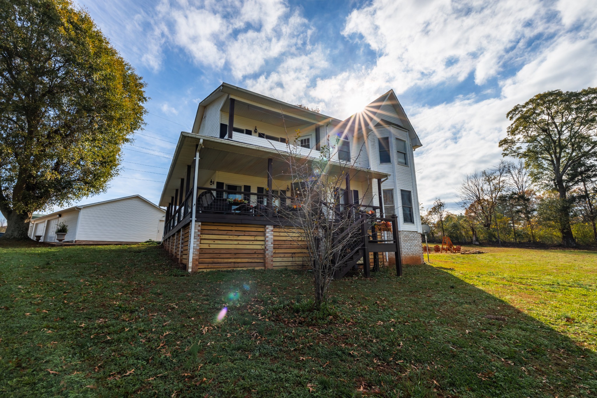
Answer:
[[[174,192],[180,187],[180,178],[186,178],[187,165],[193,162],[197,144],[202,146],[199,152],[200,180],[201,177],[208,177],[207,174],[211,174],[213,171],[267,178],[267,159],[269,158],[273,159],[273,178],[285,180],[286,178],[282,177],[288,175],[287,162],[284,161],[285,144],[272,142],[270,143],[272,147],[269,148],[248,142],[251,139],[269,142],[265,138],[243,136],[242,134],[233,136],[233,140],[227,140],[226,138],[181,132],[159,205],[167,206],[171,196],[174,196]],[[318,155],[318,152],[314,150],[303,148],[300,150],[298,156],[304,159],[316,158]],[[332,162],[331,164],[331,172],[334,172],[335,169],[340,171],[340,163]],[[357,166],[350,167],[350,175],[354,181],[389,177],[389,174]]]

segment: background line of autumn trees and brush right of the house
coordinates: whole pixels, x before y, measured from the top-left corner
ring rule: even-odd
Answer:
[[[562,199],[555,189],[541,189],[533,182],[523,161],[502,161],[493,168],[474,172],[458,189],[462,211],[450,212],[436,199],[421,208],[421,222],[429,224],[431,242],[449,236],[453,242],[522,243],[562,242]],[[570,227],[576,243],[597,245],[597,178],[593,173],[578,178],[567,203]]]

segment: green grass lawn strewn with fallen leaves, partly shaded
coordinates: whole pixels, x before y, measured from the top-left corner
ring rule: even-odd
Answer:
[[[346,277],[315,313],[306,271],[2,243],[0,396],[597,396],[597,253],[487,250]]]

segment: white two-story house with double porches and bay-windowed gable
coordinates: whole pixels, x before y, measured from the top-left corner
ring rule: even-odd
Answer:
[[[181,132],[168,171],[159,201],[167,251],[189,271],[304,266],[306,250],[287,239],[296,226],[276,211],[294,198],[281,172],[290,140],[305,159],[333,148],[327,172],[350,165],[342,203],[393,223],[384,243],[364,238],[355,264],[423,263],[413,157],[421,143],[392,90],[340,120],[221,84]]]

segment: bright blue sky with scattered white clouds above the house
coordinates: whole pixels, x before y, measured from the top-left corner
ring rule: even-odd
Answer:
[[[393,88],[423,142],[415,152],[421,202],[439,197],[457,210],[463,176],[501,158],[512,106],[538,92],[597,85],[597,7],[589,0],[79,4],[151,97],[121,176],[80,203],[136,193],[157,202],[180,131],[225,81],[336,118]]]

